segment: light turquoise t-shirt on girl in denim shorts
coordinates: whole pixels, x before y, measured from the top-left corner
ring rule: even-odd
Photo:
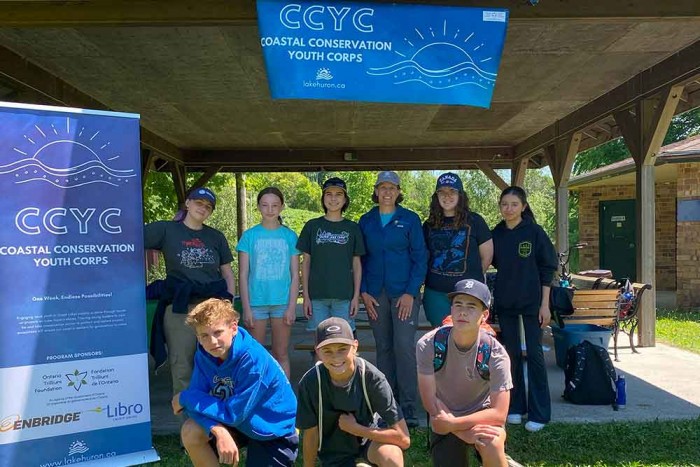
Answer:
[[[248,254],[250,306],[289,302],[289,265],[299,255],[296,243],[297,234],[285,226],[269,230],[258,224],[243,232],[236,249]]]

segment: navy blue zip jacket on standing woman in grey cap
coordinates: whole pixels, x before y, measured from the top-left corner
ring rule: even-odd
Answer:
[[[382,227],[379,208],[360,218],[367,254],[362,257],[361,292],[374,297],[382,289],[391,297],[418,296],[428,269],[428,250],[418,215],[396,206],[394,217]]]

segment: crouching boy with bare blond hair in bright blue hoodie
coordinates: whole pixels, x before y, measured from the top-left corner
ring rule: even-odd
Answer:
[[[292,466],[299,445],[294,391],[238,320],[231,302],[215,298],[187,315],[198,345],[190,385],[172,400],[176,414],[190,417],[182,442],[195,467],[237,465],[244,446],[246,465]]]

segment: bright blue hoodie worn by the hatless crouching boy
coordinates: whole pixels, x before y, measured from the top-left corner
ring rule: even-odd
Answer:
[[[292,386],[268,351],[240,327],[220,365],[197,345],[192,379],[180,393],[180,405],[207,432],[221,424],[265,441],[295,431]]]

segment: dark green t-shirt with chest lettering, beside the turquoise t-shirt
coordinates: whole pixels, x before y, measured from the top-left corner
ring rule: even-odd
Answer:
[[[301,229],[297,249],[311,255],[309,296],[350,300],[354,291],[352,260],[365,254],[360,227],[343,219],[311,219]]]

